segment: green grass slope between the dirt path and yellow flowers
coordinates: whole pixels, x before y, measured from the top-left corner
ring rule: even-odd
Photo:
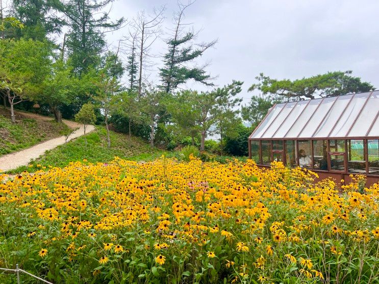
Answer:
[[[39,159],[32,161],[29,166],[21,166],[8,173],[22,171],[34,172],[43,167],[64,167],[70,162],[87,159],[90,163],[107,163],[120,157],[133,161],[151,161],[162,154],[172,156],[172,153],[157,148],[151,148],[142,139],[110,131],[111,147],[107,147],[107,133],[103,126],[96,126],[94,132],[87,134],[87,146],[84,137],[80,137],[53,150],[46,151]]]

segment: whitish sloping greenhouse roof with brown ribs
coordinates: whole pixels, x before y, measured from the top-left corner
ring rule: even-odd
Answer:
[[[379,137],[379,90],[274,105],[249,139]]]

